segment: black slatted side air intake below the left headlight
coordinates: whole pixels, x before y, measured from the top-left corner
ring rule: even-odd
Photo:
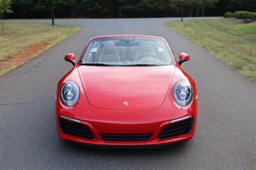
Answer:
[[[86,139],[93,139],[93,134],[88,127],[80,123],[64,120],[60,118],[60,128],[64,134],[76,135]]]

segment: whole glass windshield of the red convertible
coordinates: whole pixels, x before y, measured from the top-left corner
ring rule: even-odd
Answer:
[[[171,65],[172,56],[159,38],[118,36],[93,39],[80,65],[160,66]]]

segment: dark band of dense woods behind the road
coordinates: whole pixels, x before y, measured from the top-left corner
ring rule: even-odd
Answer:
[[[12,0],[7,18],[50,18],[52,0]],[[185,0],[184,16],[256,12],[256,0]],[[56,18],[179,17],[180,0],[54,0]]]

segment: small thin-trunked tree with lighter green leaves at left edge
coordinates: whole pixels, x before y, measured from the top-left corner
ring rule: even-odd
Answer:
[[[11,0],[0,0],[0,19],[2,20],[1,32],[4,32],[4,19],[6,15],[12,13],[12,1]]]

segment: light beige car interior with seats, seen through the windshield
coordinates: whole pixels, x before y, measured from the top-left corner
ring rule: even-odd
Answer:
[[[83,63],[170,63],[168,52],[148,40],[108,40],[95,43],[88,50],[90,53]]]

